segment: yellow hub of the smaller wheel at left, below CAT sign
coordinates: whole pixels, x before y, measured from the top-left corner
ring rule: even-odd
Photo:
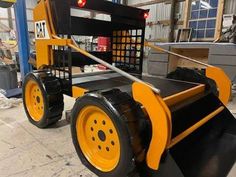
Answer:
[[[38,83],[29,80],[25,87],[25,102],[29,115],[34,121],[40,121],[44,114],[44,100]]]

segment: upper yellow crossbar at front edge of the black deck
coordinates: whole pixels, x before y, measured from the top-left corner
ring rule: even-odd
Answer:
[[[191,89],[185,90],[183,92],[179,92],[177,94],[165,97],[165,98],[163,98],[163,100],[165,101],[165,103],[168,106],[173,106],[176,103],[184,101],[187,98],[190,98],[190,97],[192,97],[194,95],[197,95],[199,93],[204,92],[204,90],[205,90],[205,85],[204,84],[200,84],[200,85],[198,85],[196,87],[193,87]]]

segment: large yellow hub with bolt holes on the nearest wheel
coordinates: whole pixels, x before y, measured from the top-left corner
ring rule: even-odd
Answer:
[[[76,131],[86,159],[98,170],[112,171],[120,159],[120,141],[109,116],[96,106],[83,108],[78,115]]]

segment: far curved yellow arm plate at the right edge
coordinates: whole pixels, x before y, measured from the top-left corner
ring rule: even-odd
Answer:
[[[220,100],[227,105],[231,96],[231,81],[225,72],[214,66],[206,68],[206,76],[216,82],[219,91]]]

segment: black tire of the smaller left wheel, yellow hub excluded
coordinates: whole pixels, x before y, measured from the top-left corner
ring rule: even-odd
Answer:
[[[25,87],[30,80],[37,82],[44,100],[44,114],[40,121],[33,120],[27,110]],[[64,98],[59,80],[42,71],[27,74],[23,83],[23,105],[29,121],[38,128],[47,128],[49,125],[55,124],[61,119],[64,110]]]

